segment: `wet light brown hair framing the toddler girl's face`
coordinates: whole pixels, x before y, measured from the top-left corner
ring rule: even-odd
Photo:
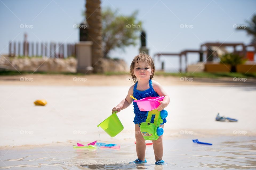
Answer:
[[[131,79],[133,80],[133,82],[137,82],[137,78],[133,73],[134,67],[135,67],[135,63],[138,62],[146,62],[146,64],[148,64],[151,69],[153,68],[153,72],[150,76],[150,79],[152,80],[152,78],[154,77],[154,73],[155,73],[155,65],[154,65],[154,61],[152,59],[152,57],[150,55],[147,55],[146,53],[139,53],[139,55],[135,56],[133,61],[131,62],[131,66],[130,66],[130,73],[131,73]]]

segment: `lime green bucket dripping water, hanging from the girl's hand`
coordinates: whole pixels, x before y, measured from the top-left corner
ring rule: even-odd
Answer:
[[[117,112],[110,115],[107,119],[101,122],[97,127],[101,127],[109,136],[114,137],[123,130],[123,125],[117,117]]]

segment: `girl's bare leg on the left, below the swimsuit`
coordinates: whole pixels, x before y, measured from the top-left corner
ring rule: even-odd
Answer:
[[[138,124],[135,124],[135,139],[137,156],[140,160],[145,161],[146,143]]]

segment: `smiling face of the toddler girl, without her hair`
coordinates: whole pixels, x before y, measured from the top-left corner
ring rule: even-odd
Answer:
[[[151,67],[146,62],[139,61],[138,63],[135,63],[133,73],[138,80],[146,80],[150,79],[153,71],[154,70],[151,69]]]

